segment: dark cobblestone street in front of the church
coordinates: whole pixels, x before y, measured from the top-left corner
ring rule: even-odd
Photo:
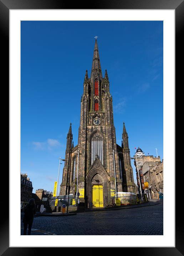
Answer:
[[[81,212],[74,216],[35,217],[31,235],[163,235],[163,202],[140,208]]]

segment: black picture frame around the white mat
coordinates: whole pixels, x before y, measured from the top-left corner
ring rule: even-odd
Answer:
[[[71,8],[72,5],[72,8]],[[184,41],[182,38],[182,28],[184,27],[184,1],[183,0],[102,0],[102,1],[75,1],[72,4],[69,1],[63,0],[0,0],[0,31],[1,31],[1,50],[4,55],[1,74],[6,77],[6,82],[3,86],[5,92],[9,94],[9,10],[13,9],[173,9],[175,10],[175,78],[176,85],[183,81],[183,64],[182,63],[182,50]],[[176,87],[177,88],[177,87]],[[176,110],[178,103],[176,104]],[[9,107],[7,106],[7,109]],[[175,112],[177,113],[177,111]],[[7,118],[7,115],[6,115]],[[5,118],[5,119],[6,119]],[[6,119],[7,120],[7,119]],[[9,136],[9,135],[8,135]],[[7,142],[6,142],[7,143]],[[177,163],[177,161],[175,161]],[[180,175],[180,170],[175,169],[175,177]],[[8,172],[2,173],[2,181],[8,181]],[[182,182],[181,182],[182,183]],[[43,248],[34,247],[9,247],[9,214],[7,209],[7,198],[2,196],[1,205],[6,205],[6,210],[3,215],[3,224],[0,228],[0,255],[37,255],[40,254]],[[177,186],[177,194],[182,195],[181,184]],[[4,200],[4,201],[3,201]],[[19,200],[19,198],[17,199]],[[180,210],[182,197],[176,196],[175,198],[175,247],[126,247],[124,250],[131,250],[132,253],[137,255],[184,255],[184,229],[183,229],[183,211]],[[174,202],[171,202],[171,204]],[[4,210],[4,209],[3,209]],[[24,246],[24,245],[22,245]],[[146,246],[146,245],[145,245]],[[82,246],[81,246],[82,247]],[[84,245],[85,247],[85,245]],[[113,247],[113,245],[112,245]],[[59,248],[60,250],[62,248]],[[52,250],[52,252],[51,252]],[[53,248],[47,248],[47,252],[53,254]],[[71,251],[70,251],[71,252]],[[72,250],[73,252],[73,250]],[[63,252],[62,252],[63,253]],[[88,253],[88,250],[86,251]]]

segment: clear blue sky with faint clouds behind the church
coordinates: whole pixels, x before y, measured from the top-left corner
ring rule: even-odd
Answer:
[[[157,147],[163,159],[163,21],[21,21],[21,173],[30,177],[34,193],[53,191],[70,123],[77,145],[96,35],[117,144],[124,122],[131,157],[134,147],[157,156]]]

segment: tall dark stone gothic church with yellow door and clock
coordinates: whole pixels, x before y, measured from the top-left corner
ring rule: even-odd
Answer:
[[[102,76],[95,39],[91,76],[86,70],[81,98],[78,145],[73,146],[72,127],[67,134],[65,166],[60,195],[80,192],[88,203],[103,207],[117,192],[135,193],[128,134],[123,123],[122,145],[116,144],[112,96],[107,70]]]

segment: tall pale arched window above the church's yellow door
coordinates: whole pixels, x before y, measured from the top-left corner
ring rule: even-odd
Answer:
[[[96,158],[96,154],[103,164],[103,138],[99,133],[95,133],[91,138],[91,164]]]

